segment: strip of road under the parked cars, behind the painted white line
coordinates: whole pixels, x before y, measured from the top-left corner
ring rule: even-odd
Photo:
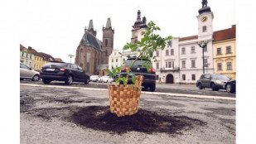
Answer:
[[[31,80],[22,80],[22,84],[43,84],[42,81],[34,82]],[[114,83],[113,83],[114,84]],[[61,85],[61,86],[69,86],[65,85],[64,82],[60,81],[52,81],[48,85]],[[83,83],[74,83],[71,85],[72,87],[87,87],[87,88],[99,88],[99,89],[107,89],[108,84],[106,83],[96,83],[89,82],[89,84]],[[142,89],[145,90],[145,89]],[[148,89],[147,89],[148,90]],[[210,96],[219,96],[219,97],[230,97],[235,98],[236,94],[227,93],[224,89],[220,89],[219,91],[212,91],[211,89],[198,89],[196,85],[185,85],[185,84],[157,84],[156,92],[161,93],[173,93],[173,94],[199,94],[199,95],[210,95]]]

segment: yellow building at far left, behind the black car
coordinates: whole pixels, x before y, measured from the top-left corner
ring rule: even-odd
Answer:
[[[43,57],[40,53],[38,53],[35,49],[32,49],[30,46],[28,46],[28,50],[34,54],[34,60],[32,68],[33,70],[40,71],[41,67],[43,65]]]

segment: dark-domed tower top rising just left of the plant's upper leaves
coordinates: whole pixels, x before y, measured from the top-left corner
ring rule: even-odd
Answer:
[[[147,20],[146,17],[143,17],[141,20],[141,12],[138,10],[137,12],[137,21],[134,22],[133,25],[133,30],[132,30],[132,38],[131,41],[133,43],[136,43],[138,41],[138,32],[140,29],[142,28],[146,28],[147,27]]]

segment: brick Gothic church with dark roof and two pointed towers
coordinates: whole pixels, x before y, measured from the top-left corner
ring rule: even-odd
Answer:
[[[88,74],[107,74],[109,55],[114,47],[114,29],[110,18],[106,27],[103,27],[103,41],[97,37],[94,31],[93,21],[90,20],[89,28],[85,27],[85,34],[76,49],[75,64],[80,65]]]

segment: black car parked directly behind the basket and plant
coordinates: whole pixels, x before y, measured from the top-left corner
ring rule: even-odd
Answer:
[[[128,65],[132,65],[133,60],[135,60],[135,57],[132,58],[128,58],[128,60],[126,60],[126,63],[123,67],[123,69],[121,70],[120,75],[122,75],[123,77],[126,77],[127,72],[126,70],[128,70]],[[132,74],[135,75],[143,75],[144,76],[144,80],[142,82],[142,86],[147,89],[149,88],[150,91],[154,92],[156,89],[156,70],[154,68],[152,68],[152,63],[150,62],[150,60],[147,60],[151,63],[151,68],[149,71],[147,71],[147,65],[144,65],[144,67],[142,67],[142,63],[145,62],[146,60],[141,59],[141,60],[137,60],[134,65],[131,67],[132,70]],[[128,84],[132,84],[132,75],[128,76]],[[123,84],[122,82],[120,82],[120,84]]]

